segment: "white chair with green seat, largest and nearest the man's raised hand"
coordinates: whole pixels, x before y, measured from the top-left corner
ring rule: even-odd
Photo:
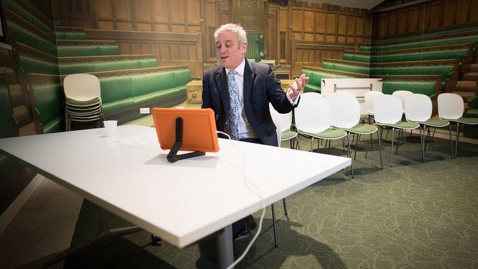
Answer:
[[[350,157],[350,139],[347,132],[332,129],[331,125],[332,107],[329,101],[317,93],[305,93],[301,95],[300,104],[295,108],[295,126],[299,134],[311,139],[311,151],[313,150],[314,139],[330,141],[347,137],[347,156]],[[319,145],[319,143],[317,143],[317,145]],[[352,170],[352,177],[353,176]]]

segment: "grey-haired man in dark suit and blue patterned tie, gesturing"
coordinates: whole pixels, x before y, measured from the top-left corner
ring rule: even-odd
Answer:
[[[214,37],[220,65],[204,72],[201,107],[214,110],[217,130],[228,133],[231,139],[277,146],[280,141],[269,102],[279,113],[290,112],[309,78],[302,74],[286,94],[269,65],[244,58],[247,38],[241,26],[221,25]],[[237,221],[233,236],[250,233],[255,224],[252,216]]]

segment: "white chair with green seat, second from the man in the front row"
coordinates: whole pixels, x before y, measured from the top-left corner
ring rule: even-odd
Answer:
[[[372,134],[377,132],[378,128],[374,125],[359,124],[360,121],[360,105],[353,94],[335,93],[329,100],[332,107],[332,127],[334,129],[344,130],[348,134],[357,135],[370,134],[370,143],[372,142]],[[380,143],[380,140],[379,140]],[[358,139],[355,140],[354,160],[357,157]],[[365,158],[368,153],[368,145],[365,152]],[[380,166],[382,165],[382,149],[379,144]]]

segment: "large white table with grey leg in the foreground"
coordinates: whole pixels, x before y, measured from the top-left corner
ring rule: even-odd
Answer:
[[[350,158],[223,139],[219,152],[168,163],[157,139],[121,140],[155,136],[154,128],[119,126],[116,138],[104,133],[5,138],[0,153],[178,247],[218,231],[221,267],[233,260],[233,222],[351,164]]]

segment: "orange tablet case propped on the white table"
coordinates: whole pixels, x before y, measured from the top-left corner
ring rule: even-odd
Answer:
[[[158,108],[152,116],[159,145],[170,149],[176,141],[176,119],[183,119],[183,143],[180,150],[217,152],[216,122],[210,108]]]

